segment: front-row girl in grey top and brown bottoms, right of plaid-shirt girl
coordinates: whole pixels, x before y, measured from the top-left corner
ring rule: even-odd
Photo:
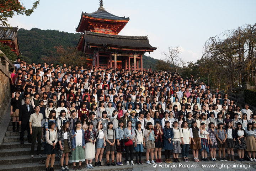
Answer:
[[[219,113],[218,113],[219,114]],[[225,153],[225,148],[226,148],[226,139],[227,139],[227,134],[226,134],[226,130],[223,129],[223,123],[220,122],[218,123],[218,128],[217,128],[217,133],[216,133],[216,138],[218,140],[218,154],[219,154],[219,160],[220,161],[227,161],[226,160],[226,153]],[[221,157],[221,152],[223,154],[223,159]]]

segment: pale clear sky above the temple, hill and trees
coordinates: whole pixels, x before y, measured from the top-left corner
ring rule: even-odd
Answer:
[[[20,0],[28,9],[35,0]],[[81,12],[95,12],[99,0],[41,0],[31,16],[9,19],[12,27],[39,28],[76,33]],[[157,49],[145,53],[155,59],[166,59],[161,52],[169,46],[180,47],[185,62],[202,57],[208,38],[246,24],[255,24],[255,0],[103,0],[107,12],[130,21],[119,33],[127,36],[148,36]]]

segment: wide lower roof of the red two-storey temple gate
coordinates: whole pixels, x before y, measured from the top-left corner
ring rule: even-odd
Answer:
[[[97,32],[84,32],[84,41],[89,48],[105,48],[115,51],[153,52],[147,36],[121,36]]]

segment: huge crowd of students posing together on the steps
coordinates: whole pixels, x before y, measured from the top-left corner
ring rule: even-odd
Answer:
[[[236,148],[239,161],[244,161],[246,151],[250,161],[256,162],[256,114],[248,105],[240,110],[227,94],[222,97],[218,89],[212,92],[193,75],[182,78],[162,71],[42,66],[19,58],[14,65],[13,132],[21,125],[23,144],[28,131],[31,158],[36,142],[36,155],[42,157],[43,144],[46,171],[53,171],[55,154],[61,170],[68,171],[68,162],[73,163],[73,170],[81,170],[83,161],[87,169],[101,167],[104,151],[107,166],[123,165],[124,151],[126,165],[134,165],[134,151],[135,163],[143,164],[144,149],[146,164],[162,163],[162,149],[166,163],[180,162],[180,153],[184,162],[190,162],[189,149],[194,162],[200,162],[199,152],[202,161],[208,161],[208,153],[217,161],[216,148],[220,161],[227,161],[226,148],[228,160],[236,161]]]

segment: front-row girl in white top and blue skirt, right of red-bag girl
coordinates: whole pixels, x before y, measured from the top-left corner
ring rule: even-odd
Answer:
[[[140,165],[143,164],[141,160],[142,152],[143,152],[143,147],[145,147],[145,137],[144,137],[144,130],[141,128],[142,123],[139,121],[136,123],[136,129],[134,130],[135,132],[135,156],[136,156],[136,164]],[[139,160],[138,160],[138,155],[139,155]]]

